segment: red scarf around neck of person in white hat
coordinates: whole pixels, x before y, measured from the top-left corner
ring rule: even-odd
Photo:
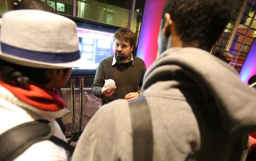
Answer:
[[[58,111],[65,108],[65,100],[60,97],[57,90],[49,90],[30,84],[28,89],[0,81],[0,85],[12,92],[18,99],[43,111]]]

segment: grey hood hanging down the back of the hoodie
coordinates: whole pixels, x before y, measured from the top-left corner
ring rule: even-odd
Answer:
[[[201,49],[171,48],[162,53],[147,70],[142,92],[167,77],[175,80],[176,73],[196,82],[202,100],[213,102],[207,108],[214,108],[213,115],[217,115],[227,133],[256,130],[256,89],[245,85],[226,63]]]

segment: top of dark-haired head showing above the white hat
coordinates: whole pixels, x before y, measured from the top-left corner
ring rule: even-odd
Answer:
[[[14,9],[15,10],[32,9],[32,10],[42,10],[42,11],[57,13],[57,11],[55,11],[53,7],[49,6],[47,3],[43,2],[42,0],[21,0],[14,7]]]

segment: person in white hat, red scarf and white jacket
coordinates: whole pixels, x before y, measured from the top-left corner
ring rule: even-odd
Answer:
[[[8,11],[0,35],[0,134],[25,122],[47,120],[54,124],[54,136],[66,141],[54,119],[68,110],[54,88],[64,86],[71,69],[84,63],[76,24],[47,11]],[[68,152],[45,140],[15,161],[35,160],[67,161]]]

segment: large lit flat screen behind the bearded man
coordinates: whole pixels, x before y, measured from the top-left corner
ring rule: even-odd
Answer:
[[[101,59],[114,54],[113,35],[120,27],[69,15],[60,15],[70,18],[77,24],[79,50],[84,58],[84,66],[73,68],[71,76],[95,75]]]

